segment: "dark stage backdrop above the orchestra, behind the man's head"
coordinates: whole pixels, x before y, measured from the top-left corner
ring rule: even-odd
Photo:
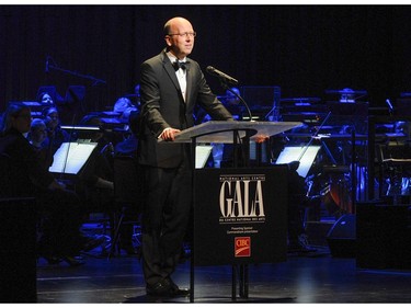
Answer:
[[[88,111],[112,106],[134,92],[175,15],[197,31],[191,57],[240,85],[279,85],[283,98],[367,90],[370,106],[411,90],[408,5],[1,5],[1,110],[50,84],[61,95],[85,85]],[[59,69],[46,72],[47,57]]]

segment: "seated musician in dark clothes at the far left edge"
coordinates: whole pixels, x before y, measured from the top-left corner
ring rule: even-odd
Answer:
[[[82,209],[78,196],[53,176],[25,138],[32,123],[31,109],[10,103],[0,123],[0,153],[8,158],[10,187],[0,197],[35,197],[39,217],[39,256],[50,263],[83,264],[76,259],[84,244],[80,233]]]

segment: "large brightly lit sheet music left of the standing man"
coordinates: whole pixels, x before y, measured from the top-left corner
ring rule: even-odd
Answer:
[[[54,161],[48,171],[78,174],[96,146],[96,142],[64,142],[54,155]]]

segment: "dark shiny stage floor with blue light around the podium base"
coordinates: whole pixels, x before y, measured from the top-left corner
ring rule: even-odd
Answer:
[[[354,258],[333,258],[327,247],[312,255],[288,255],[286,262],[249,265],[246,303],[411,303],[411,271],[365,270]],[[148,298],[141,266],[136,256],[111,260],[94,254],[87,264],[37,263],[37,303],[121,304],[190,303],[190,298]],[[190,285],[190,261],[182,262],[173,276],[181,287]],[[233,303],[231,266],[196,266],[194,303]]]

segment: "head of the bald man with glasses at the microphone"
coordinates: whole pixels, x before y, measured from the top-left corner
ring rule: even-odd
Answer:
[[[170,52],[179,59],[189,56],[194,47],[194,33],[189,21],[178,20],[173,22],[169,35],[165,35],[165,43]]]

